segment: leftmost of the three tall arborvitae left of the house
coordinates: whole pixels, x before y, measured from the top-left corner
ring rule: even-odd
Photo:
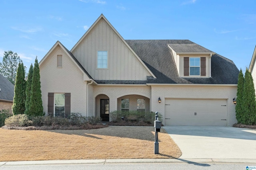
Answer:
[[[23,67],[24,69],[24,67]],[[25,83],[25,75],[22,70],[22,64],[19,63],[16,80],[14,85],[14,98],[12,105],[12,112],[14,115],[23,114],[25,111],[25,100],[24,100],[24,83]]]

